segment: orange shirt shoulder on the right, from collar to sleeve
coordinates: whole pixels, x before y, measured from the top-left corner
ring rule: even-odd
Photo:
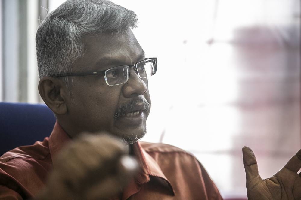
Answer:
[[[182,187],[177,188],[178,185],[185,185],[189,187],[191,195],[198,196],[200,190],[203,189],[205,191],[203,193],[208,195],[208,199],[222,199],[206,169],[194,155],[169,144],[139,143],[160,167],[176,193],[182,191]]]

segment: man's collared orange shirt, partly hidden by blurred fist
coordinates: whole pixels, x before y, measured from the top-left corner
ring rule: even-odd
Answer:
[[[0,199],[34,197],[45,186],[53,167],[51,157],[70,140],[56,123],[49,138],[1,156]],[[141,172],[123,189],[122,200],[222,199],[200,162],[184,150],[147,142],[138,142],[133,149]]]

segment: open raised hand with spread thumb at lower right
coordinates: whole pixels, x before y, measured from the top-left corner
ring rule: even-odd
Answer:
[[[249,200],[301,199],[301,150],[274,176],[262,179],[258,172],[256,157],[249,147],[243,147],[244,168],[247,177]]]

